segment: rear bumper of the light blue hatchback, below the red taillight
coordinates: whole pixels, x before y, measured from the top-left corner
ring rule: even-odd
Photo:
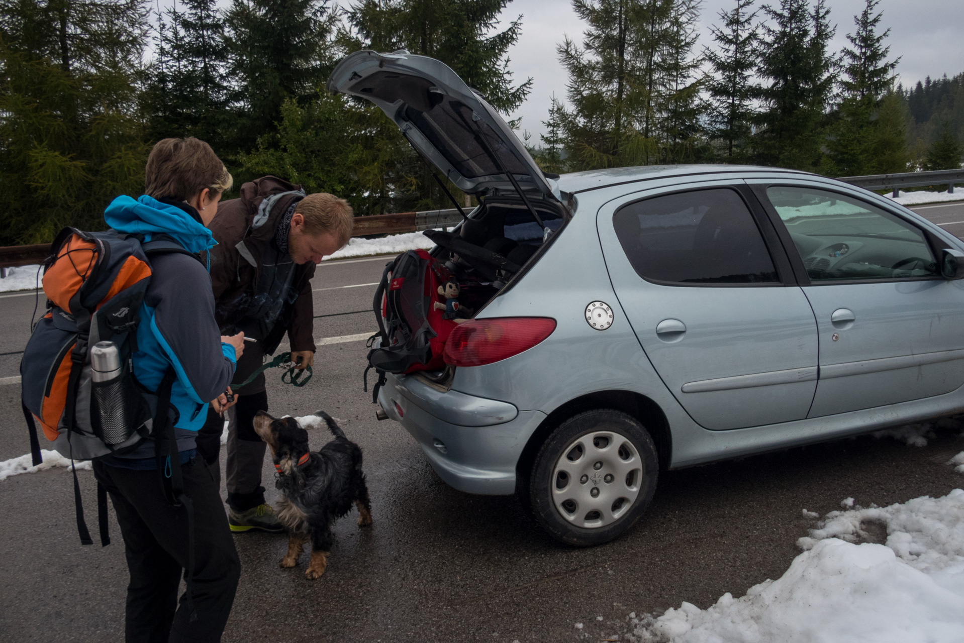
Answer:
[[[522,448],[546,418],[508,402],[442,392],[406,375],[388,374],[378,403],[412,434],[442,480],[490,496],[515,493]]]

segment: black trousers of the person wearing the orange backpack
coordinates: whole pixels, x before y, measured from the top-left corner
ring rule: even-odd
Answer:
[[[213,476],[201,458],[183,465],[184,492],[194,505],[194,608],[188,620],[177,587],[188,561],[187,516],[168,504],[156,470],[94,462],[120,523],[130,583],[124,617],[127,643],[220,641],[228,623],[241,562]]]

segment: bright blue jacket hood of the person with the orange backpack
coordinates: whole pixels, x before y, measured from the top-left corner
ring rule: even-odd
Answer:
[[[147,195],[137,201],[118,197],[104,210],[104,221],[111,228],[127,234],[164,232],[192,253],[201,253],[218,245],[211,230],[204,228],[190,214],[174,205],[151,199]]]

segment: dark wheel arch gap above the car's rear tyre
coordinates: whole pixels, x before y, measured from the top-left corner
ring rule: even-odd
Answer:
[[[516,463],[516,489],[519,481],[528,477],[529,469],[535,460],[539,447],[549,434],[560,423],[572,417],[594,409],[612,409],[621,411],[637,419],[653,438],[656,444],[656,454],[659,458],[659,469],[667,469],[673,454],[673,437],[670,432],[666,415],[652,399],[633,390],[600,390],[580,395],[565,404],[560,405],[540,422],[539,426],[522,448],[522,454]]]

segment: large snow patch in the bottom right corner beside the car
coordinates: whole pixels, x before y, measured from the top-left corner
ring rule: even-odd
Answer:
[[[849,498],[848,498],[849,499]],[[886,545],[864,542],[868,522]],[[637,641],[757,643],[960,641],[964,491],[827,515],[786,574],[707,609],[692,603],[634,621]]]

